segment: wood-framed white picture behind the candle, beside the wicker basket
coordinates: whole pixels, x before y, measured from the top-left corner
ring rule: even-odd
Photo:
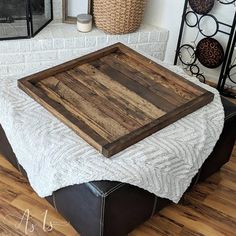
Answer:
[[[62,0],[62,20],[64,23],[76,24],[77,16],[90,14],[91,0]]]

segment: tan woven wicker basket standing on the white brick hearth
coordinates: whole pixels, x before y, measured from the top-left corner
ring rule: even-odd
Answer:
[[[94,0],[96,26],[109,34],[134,32],[142,23],[146,0]]]

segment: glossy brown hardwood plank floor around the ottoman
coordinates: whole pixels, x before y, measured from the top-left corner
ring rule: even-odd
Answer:
[[[79,234],[0,154],[0,236],[18,235]],[[236,235],[236,145],[230,162],[185,194],[181,204],[164,208],[129,235]]]

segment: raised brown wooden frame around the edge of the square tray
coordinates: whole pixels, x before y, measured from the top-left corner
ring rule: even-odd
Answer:
[[[175,78],[175,82],[173,84],[178,84],[180,87],[182,86],[181,88],[183,88],[184,91],[193,91],[198,95],[194,95],[195,97],[193,97],[193,99],[187,101],[179,107],[176,107],[176,109],[169,109],[169,111],[166,111],[164,115],[161,115],[157,119],[153,119],[146,125],[143,125],[142,127],[135,129],[112,142],[108,142],[104,139],[104,137],[101,137],[101,135],[94,132],[91,127],[85,125],[83,122],[80,122],[80,120],[75,119],[75,117],[68,110],[53,101],[50,97],[46,96],[45,93],[35,85],[41,81],[44,81],[44,79],[47,79],[48,77],[64,73],[81,65],[83,66],[86,63],[94,63],[94,61],[96,62],[96,60],[100,60],[101,58],[109,56],[112,53],[118,53],[118,51],[128,55],[137,63],[141,63],[148,70],[160,71],[163,76],[166,76],[165,78],[167,80],[170,80],[170,77]],[[20,79],[18,80],[18,86],[106,157],[110,157],[124,150],[132,144],[137,143],[147,136],[186,116],[187,114],[199,109],[200,107],[211,102],[214,97],[213,93],[160,66],[159,64],[151,61],[121,43],[114,44],[86,56],[82,56],[78,59],[74,59],[51,69],[47,69]],[[140,88],[142,89],[142,87]],[[148,94],[145,94],[145,96],[148,96]],[[154,100],[154,103],[155,102],[158,101]],[[168,108],[168,103],[166,108]]]

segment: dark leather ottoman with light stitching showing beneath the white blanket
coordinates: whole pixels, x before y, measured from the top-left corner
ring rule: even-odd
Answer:
[[[224,98],[222,102],[226,115],[223,132],[192,185],[229,161],[236,139],[236,106]],[[26,175],[1,126],[0,152]],[[82,236],[127,235],[170,202],[138,187],[109,181],[69,186],[54,192],[47,200]]]

